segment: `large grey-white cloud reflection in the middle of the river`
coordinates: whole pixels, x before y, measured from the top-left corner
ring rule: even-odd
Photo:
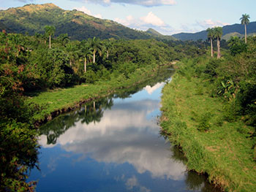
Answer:
[[[99,123],[78,122],[57,141],[65,150],[82,153],[99,162],[135,166],[139,173],[152,177],[181,179],[185,167],[170,160],[169,146],[157,137],[159,127],[146,116],[159,107],[159,101],[134,101],[115,104],[105,110]],[[41,144],[46,145],[45,137]]]

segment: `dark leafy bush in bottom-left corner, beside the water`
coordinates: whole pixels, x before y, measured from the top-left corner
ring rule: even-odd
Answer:
[[[35,183],[26,183],[26,172],[37,166],[36,131],[26,123],[1,119],[0,191],[31,191]]]

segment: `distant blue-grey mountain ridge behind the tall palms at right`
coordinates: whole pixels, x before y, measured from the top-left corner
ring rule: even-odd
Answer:
[[[234,24],[231,26],[223,26],[223,38],[222,39],[230,39],[232,36],[238,36],[238,37],[244,37],[244,26],[241,24]],[[247,25],[247,34],[253,35],[256,33],[256,22],[251,22]],[[180,33],[180,34],[174,34],[173,37],[176,39],[186,41],[186,40],[193,40],[197,41],[198,39],[207,39],[207,32],[206,31],[200,31],[197,33]]]

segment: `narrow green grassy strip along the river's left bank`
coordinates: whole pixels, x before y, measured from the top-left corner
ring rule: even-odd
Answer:
[[[76,85],[72,88],[59,88],[43,92],[33,92],[26,96],[26,104],[35,104],[40,110],[32,117],[35,126],[40,126],[52,120],[64,112],[75,110],[82,104],[94,101],[104,96],[116,93],[122,88],[129,88],[145,82],[152,77],[157,77],[159,70],[166,69],[172,64],[163,66],[148,66],[147,68],[137,69],[129,77],[119,76],[108,81],[98,81],[95,84]]]

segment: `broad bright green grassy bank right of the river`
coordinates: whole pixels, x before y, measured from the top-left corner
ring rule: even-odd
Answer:
[[[211,96],[208,85],[192,69],[173,76],[162,91],[163,131],[181,147],[189,170],[208,174],[223,191],[255,191],[256,162],[248,134],[253,128],[242,120],[226,121],[225,105]]]

